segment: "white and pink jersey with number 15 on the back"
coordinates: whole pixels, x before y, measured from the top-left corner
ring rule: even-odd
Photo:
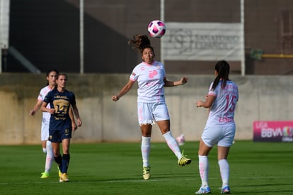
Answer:
[[[234,123],[234,113],[239,98],[238,86],[234,82],[227,81],[226,87],[222,89],[222,80],[220,80],[216,89],[212,90],[212,84],[210,85],[209,95],[216,96],[216,99],[210,108],[207,126]]]

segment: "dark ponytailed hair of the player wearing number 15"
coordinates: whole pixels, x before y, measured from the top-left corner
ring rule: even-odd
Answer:
[[[225,60],[217,62],[217,64],[214,66],[214,69],[217,70],[218,75],[214,79],[214,82],[212,84],[212,89],[216,89],[217,85],[219,84],[220,79],[223,79],[222,82],[222,89],[226,87],[226,82],[229,80],[229,72],[230,72],[230,66],[228,62]]]

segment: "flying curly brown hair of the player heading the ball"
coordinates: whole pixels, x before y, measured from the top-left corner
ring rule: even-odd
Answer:
[[[154,48],[151,47],[151,41],[147,35],[133,35],[132,40],[128,41],[129,45],[133,45],[134,50],[138,50],[141,54],[145,48],[150,48],[154,52]]]

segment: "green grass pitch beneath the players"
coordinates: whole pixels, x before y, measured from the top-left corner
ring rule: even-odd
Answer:
[[[40,145],[0,146],[0,194],[194,194],[200,187],[197,142],[181,147],[193,159],[178,167],[166,143],[152,143],[151,179],[142,179],[140,143],[71,144],[70,182],[57,166],[40,179]],[[293,194],[293,143],[236,141],[229,155],[231,194]],[[209,155],[209,186],[219,194],[217,148]]]

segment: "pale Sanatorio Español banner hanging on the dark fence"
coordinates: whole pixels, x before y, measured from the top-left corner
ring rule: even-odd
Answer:
[[[241,23],[166,23],[164,60],[240,61]]]

